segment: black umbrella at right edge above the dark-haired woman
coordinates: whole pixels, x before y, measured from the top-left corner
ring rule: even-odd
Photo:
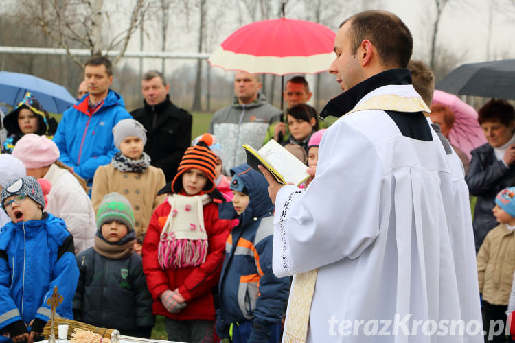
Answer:
[[[453,94],[513,100],[515,60],[463,64],[448,73],[436,88]]]

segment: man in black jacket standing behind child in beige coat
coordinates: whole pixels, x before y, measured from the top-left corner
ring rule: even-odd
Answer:
[[[170,101],[170,85],[163,73],[148,71],[141,80],[144,106],[130,114],[147,130],[145,152],[152,165],[163,169],[166,182],[173,180],[177,167],[192,141],[193,117]]]

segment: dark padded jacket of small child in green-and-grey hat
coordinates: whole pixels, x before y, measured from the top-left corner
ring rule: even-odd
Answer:
[[[80,270],[73,311],[78,320],[97,327],[115,327],[135,335],[152,327],[152,298],[148,293],[141,257],[133,252],[110,259],[89,248],[77,256]]]

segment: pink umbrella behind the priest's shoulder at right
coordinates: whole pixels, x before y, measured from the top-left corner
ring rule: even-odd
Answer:
[[[470,161],[470,151],[486,143],[483,128],[477,121],[477,112],[474,108],[453,94],[435,90],[431,104],[448,106],[455,115],[456,121],[449,131],[449,141],[465,152]]]

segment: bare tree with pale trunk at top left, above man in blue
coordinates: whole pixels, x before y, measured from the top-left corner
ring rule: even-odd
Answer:
[[[54,40],[58,47],[66,49],[69,57],[82,67],[81,60],[71,49],[89,49],[91,56],[102,54],[102,50],[118,48],[113,59],[116,64],[125,54],[130,37],[143,23],[149,3],[135,0],[130,10],[129,22],[113,37],[104,39],[104,23],[110,23],[109,12],[104,10],[103,0],[22,0],[26,10],[25,19],[40,27]],[[110,3],[112,5],[112,3]],[[123,8],[122,6],[119,6]],[[116,21],[119,28],[119,21]]]

